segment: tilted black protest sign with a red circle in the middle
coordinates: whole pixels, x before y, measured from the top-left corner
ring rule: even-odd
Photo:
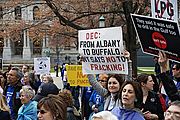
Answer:
[[[131,15],[144,53],[157,56],[164,51],[171,60],[180,62],[180,36],[174,21]]]

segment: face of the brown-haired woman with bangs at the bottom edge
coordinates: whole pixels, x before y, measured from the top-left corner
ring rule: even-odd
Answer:
[[[53,120],[53,115],[50,111],[46,110],[43,106],[39,109],[38,113],[39,120]]]

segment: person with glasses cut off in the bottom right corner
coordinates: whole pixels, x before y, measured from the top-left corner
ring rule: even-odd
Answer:
[[[180,120],[180,101],[174,101],[164,114],[165,120]]]

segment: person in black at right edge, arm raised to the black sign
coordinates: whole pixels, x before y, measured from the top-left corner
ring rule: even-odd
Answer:
[[[158,78],[162,81],[167,96],[171,102],[180,100],[180,63],[175,63],[172,68],[174,82],[168,71],[168,59],[164,52],[159,52],[158,61],[161,66],[161,74]]]

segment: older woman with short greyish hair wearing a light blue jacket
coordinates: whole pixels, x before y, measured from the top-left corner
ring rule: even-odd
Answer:
[[[23,104],[18,110],[17,120],[37,120],[37,102],[32,101],[35,91],[31,86],[23,86],[20,90],[20,99]]]

